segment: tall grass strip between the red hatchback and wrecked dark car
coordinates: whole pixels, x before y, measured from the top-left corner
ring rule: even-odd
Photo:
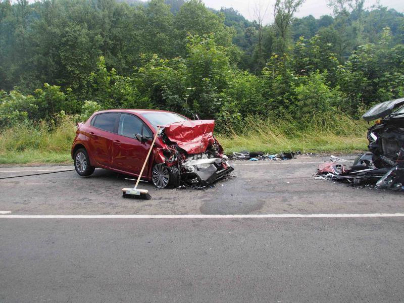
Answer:
[[[227,152],[300,150],[352,153],[366,149],[368,127],[364,121],[344,115],[313,116],[301,121],[248,117],[243,127],[228,125],[226,131],[217,134],[217,138]]]

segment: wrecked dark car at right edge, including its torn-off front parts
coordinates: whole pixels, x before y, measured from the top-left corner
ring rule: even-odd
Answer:
[[[370,152],[358,156],[350,166],[324,163],[318,170],[322,176],[317,178],[404,191],[404,98],[377,104],[362,118],[376,120],[367,135]],[[345,161],[336,157],[330,160]]]

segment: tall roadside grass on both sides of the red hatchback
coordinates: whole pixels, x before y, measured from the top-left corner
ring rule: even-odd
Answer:
[[[242,126],[222,125],[216,133],[225,152],[250,150],[279,153],[351,153],[366,149],[368,125],[339,115],[314,116],[301,121],[292,118],[248,117]],[[75,124],[68,118],[49,129],[21,124],[0,133],[0,164],[69,163]]]

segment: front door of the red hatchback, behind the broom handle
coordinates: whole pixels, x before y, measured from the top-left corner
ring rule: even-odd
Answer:
[[[118,136],[113,142],[113,168],[139,174],[150,148],[153,133],[135,115],[121,114],[118,123]],[[139,142],[136,134],[150,138],[146,142]],[[147,175],[147,165],[143,171]]]

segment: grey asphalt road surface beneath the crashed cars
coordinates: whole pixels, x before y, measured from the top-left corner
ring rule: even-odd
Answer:
[[[0,302],[404,301],[404,194],[315,180],[324,160],[141,183],[151,200],[105,170],[2,167]]]

